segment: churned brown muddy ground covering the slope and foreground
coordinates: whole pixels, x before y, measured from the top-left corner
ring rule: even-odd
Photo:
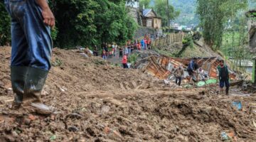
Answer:
[[[11,110],[10,52],[0,48],[0,141],[256,141],[256,95],[171,88],[75,50],[53,50],[42,97],[54,114]]]

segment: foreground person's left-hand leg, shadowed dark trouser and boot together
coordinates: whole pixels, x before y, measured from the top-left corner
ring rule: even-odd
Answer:
[[[23,26],[18,18],[25,16],[26,3],[5,1],[6,10],[11,15],[11,86],[14,91],[12,109],[18,109],[23,102],[24,86],[28,72],[28,43]],[[17,17],[18,16],[18,17]]]

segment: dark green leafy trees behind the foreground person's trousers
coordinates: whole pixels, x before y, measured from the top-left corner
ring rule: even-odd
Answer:
[[[49,1],[56,19],[55,46],[124,43],[132,39],[137,24],[127,15],[124,0]],[[0,45],[10,42],[10,18],[0,3]]]

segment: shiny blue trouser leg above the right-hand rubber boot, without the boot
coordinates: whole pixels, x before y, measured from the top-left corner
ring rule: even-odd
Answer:
[[[30,58],[29,67],[50,70],[50,56],[53,40],[50,36],[50,27],[43,23],[41,8],[36,1],[26,1],[26,16],[23,18],[23,27],[28,40]]]

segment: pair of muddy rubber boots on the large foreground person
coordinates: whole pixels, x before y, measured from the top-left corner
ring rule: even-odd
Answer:
[[[43,104],[41,92],[48,71],[35,67],[11,67],[11,85],[14,91],[12,109],[32,107],[39,114],[51,114],[53,109]]]

